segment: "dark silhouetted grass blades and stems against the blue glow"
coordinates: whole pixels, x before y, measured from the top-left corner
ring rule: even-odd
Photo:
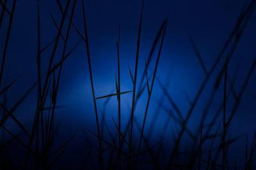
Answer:
[[[12,3],[12,9],[8,9],[7,3]],[[159,59],[161,57],[161,51],[164,44],[164,36],[166,33],[166,27],[168,26],[168,18],[163,21],[163,24],[159,27],[159,31],[156,34],[154,42],[150,48],[150,53],[145,59],[145,69],[141,78],[138,78],[138,61],[140,54],[140,45],[141,45],[141,25],[143,24],[143,6],[144,1],[141,7],[140,23],[138,30],[138,41],[136,48],[136,56],[134,63],[134,71],[129,67],[130,78],[132,81],[132,90],[131,91],[122,91],[120,81],[120,27],[118,32],[118,39],[116,41],[116,51],[117,51],[117,75],[116,75],[116,92],[102,97],[95,97],[95,88],[93,84],[93,70],[91,64],[91,55],[90,55],[90,42],[88,41],[88,32],[86,27],[86,15],[84,8],[84,1],[82,2],[81,9],[77,8],[77,1],[67,1],[67,4],[63,6],[60,0],[56,0],[58,3],[58,8],[60,9],[61,19],[60,24],[57,24],[54,16],[51,14],[52,23],[55,25],[58,33],[52,41],[47,45],[41,45],[40,37],[40,1],[37,1],[37,81],[31,85],[28,91],[20,97],[17,103],[12,104],[12,108],[6,108],[6,93],[10,90],[13,83],[17,80],[15,78],[8,85],[3,85],[3,75],[5,73],[5,60],[8,57],[8,46],[10,34],[12,34],[12,24],[13,24],[13,15],[15,15],[15,5],[17,0],[4,0],[0,1],[1,3],[1,16],[0,16],[0,31],[3,30],[1,27],[3,25],[3,19],[8,18],[7,32],[5,33],[5,39],[1,38],[1,41],[5,40],[3,48],[3,53],[1,53],[1,72],[0,72],[0,85],[1,91],[0,95],[3,96],[3,102],[0,103],[1,106],[1,125],[0,129],[3,133],[3,138],[1,137],[1,146],[0,146],[0,159],[1,159],[1,169],[54,169],[56,167],[56,162],[61,158],[65,150],[67,150],[68,143],[76,136],[76,132],[70,136],[67,141],[64,141],[60,144],[58,148],[53,147],[52,143],[56,138],[58,133],[58,124],[54,117],[56,109],[60,106],[57,105],[57,96],[59,94],[60,87],[60,78],[61,71],[63,68],[63,62],[76,50],[77,45],[82,42],[86,48],[86,57],[88,59],[88,68],[90,71],[90,85],[92,87],[92,99],[95,120],[97,124],[97,133],[92,132],[92,129],[87,129],[88,134],[86,138],[90,140],[92,136],[97,139],[97,145],[93,146],[90,142],[84,145],[88,148],[88,153],[86,153],[86,159],[81,162],[81,165],[74,165],[74,168],[80,167],[81,169],[90,169],[90,166],[99,169],[253,169],[255,164],[253,164],[253,154],[256,148],[256,133],[252,139],[252,146],[249,146],[248,135],[246,135],[246,146],[245,148],[245,162],[244,166],[237,166],[236,161],[228,159],[228,150],[230,150],[230,145],[236,142],[238,139],[243,136],[236,136],[234,138],[228,137],[228,131],[230,131],[230,124],[234,115],[236,114],[237,108],[241,103],[241,99],[244,95],[244,91],[248,85],[248,82],[253,74],[256,65],[256,59],[253,60],[252,65],[250,66],[250,71],[246,74],[246,78],[243,82],[240,92],[234,90],[234,80],[230,80],[228,76],[228,66],[230,60],[234,55],[234,52],[239,44],[241,36],[248,24],[250,17],[252,16],[253,10],[255,9],[256,1],[252,0],[246,8],[241,11],[241,15],[237,19],[237,23],[234,29],[231,31],[230,36],[228,36],[227,41],[221,48],[218,56],[214,60],[214,63],[211,67],[207,68],[204,64],[204,61],[196,48],[195,43],[192,38],[189,38],[191,45],[195,50],[196,57],[202,66],[202,70],[205,73],[205,78],[202,81],[196,96],[193,100],[189,101],[190,106],[188,113],[182,113],[180,111],[177,103],[173,99],[172,95],[168,92],[166,85],[161,83],[161,80],[157,78],[157,67],[159,65]],[[73,22],[74,11],[81,10],[83,12],[83,31],[77,29],[76,24]],[[68,11],[71,11],[68,14]],[[64,23],[68,23],[67,28]],[[63,29],[65,29],[65,34]],[[70,38],[70,29],[76,30],[76,33],[80,36],[81,40],[77,42],[74,47],[68,51],[67,45]],[[52,49],[51,55],[49,56],[49,64],[47,67],[47,72],[42,73],[42,53],[48,48]],[[230,48],[228,48],[230,47]],[[56,62],[57,48],[61,48],[60,60]],[[152,59],[156,55],[156,62],[153,63],[152,76],[149,76],[149,66],[152,65]],[[225,55],[228,53],[228,55]],[[222,62],[225,60],[225,62]],[[216,67],[221,66],[220,73],[215,78],[215,84],[209,94],[209,98],[206,101],[202,117],[198,118],[198,127],[195,131],[194,129],[188,128],[188,122],[191,119],[191,116],[195,112],[195,107],[198,106],[198,101],[202,96],[205,86],[209,82],[209,79],[212,78],[212,74],[216,73]],[[236,77],[236,76],[235,76]],[[156,81],[156,82],[155,82]],[[224,89],[221,89],[221,82],[224,84]],[[164,124],[164,130],[161,131],[159,142],[154,145],[150,144],[150,139],[154,135],[152,131],[156,127],[156,121],[150,122],[148,125],[149,129],[147,130],[147,135],[145,133],[145,126],[147,124],[148,110],[150,106],[150,101],[152,101],[152,92],[154,90],[154,84],[158,83],[163,91],[163,97],[166,97],[170,102],[170,105],[164,106],[163,103],[157,105],[157,111],[154,115],[153,120],[157,120],[159,117],[159,111],[164,110],[168,113],[168,118]],[[36,110],[33,115],[33,122],[31,122],[31,131],[29,132],[24,125],[18,120],[13,114],[17,108],[22,104],[26,97],[32,92],[32,90],[37,89],[37,101],[36,101]],[[96,89],[97,90],[97,89]],[[214,113],[211,122],[207,122],[206,118],[209,115],[209,108],[212,106],[214,97],[218,91],[223,90],[223,102],[220,104],[218,111]],[[136,106],[143,92],[146,92],[147,99],[145,101],[145,112],[143,113],[143,123],[140,124],[138,119],[135,117]],[[127,121],[128,124],[124,124],[121,120],[123,112],[121,107],[122,96],[124,94],[131,93],[131,117]],[[106,105],[108,104],[109,98],[115,96],[118,104],[118,121],[116,122],[113,118],[113,124],[115,124],[115,129],[109,129],[108,123],[105,121],[106,117]],[[230,106],[230,112],[227,111],[227,101],[232,97],[235,103]],[[99,109],[97,108],[98,100],[106,100],[104,103],[104,111],[99,115]],[[49,103],[48,103],[49,101]],[[100,117],[101,116],[101,117]],[[221,118],[219,122],[218,117]],[[100,119],[101,118],[101,119]],[[6,128],[6,120],[12,119],[15,124],[19,126],[20,134],[15,134],[10,129]],[[175,135],[171,135],[172,143],[166,145],[163,139],[166,137],[166,127],[170,124],[170,120],[173,120],[175,124],[179,126],[178,130],[175,132]],[[100,121],[101,120],[101,121]],[[216,127],[218,125],[218,127]],[[137,128],[140,132],[139,136],[134,135],[134,129]],[[215,129],[214,129],[215,128]],[[105,130],[108,131],[106,134]],[[222,131],[221,131],[222,130]],[[214,132],[212,134],[212,132]],[[188,135],[188,138],[192,140],[190,143],[190,148],[181,148],[182,137]],[[22,138],[21,138],[22,136]],[[106,139],[106,136],[110,136],[111,141]],[[170,136],[170,135],[169,135]],[[220,139],[217,141],[216,139]],[[13,142],[16,141],[20,146],[24,147],[26,153],[22,155],[17,155],[15,157],[6,157],[10,148],[13,146]],[[210,143],[209,143],[210,141]],[[217,145],[214,148],[214,145]],[[207,147],[206,147],[207,146]],[[95,153],[92,153],[93,147],[97,148],[97,159],[95,159]],[[183,146],[182,146],[183,147]],[[96,152],[96,150],[95,150]],[[147,162],[145,162],[145,158]],[[221,160],[218,160],[221,158]],[[20,161],[17,161],[20,159]],[[88,165],[88,160],[96,160],[95,164]],[[232,162],[230,162],[232,161]],[[19,164],[17,164],[19,162]],[[20,162],[22,162],[20,164]],[[76,169],[75,168],[75,169]]]

